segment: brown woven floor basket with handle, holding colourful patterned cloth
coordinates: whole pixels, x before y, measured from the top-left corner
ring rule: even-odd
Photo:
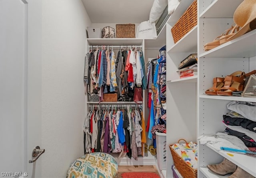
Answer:
[[[180,139],[180,140],[184,140],[184,139]],[[178,140],[178,143],[180,142],[180,140]],[[186,142],[186,140],[184,140],[184,141]],[[180,172],[182,177],[183,178],[197,178],[197,169],[194,169],[191,166],[189,166],[182,159],[182,157],[180,157],[180,155],[172,148],[172,145],[169,145],[171,153],[172,153],[172,159],[173,159],[176,169]]]

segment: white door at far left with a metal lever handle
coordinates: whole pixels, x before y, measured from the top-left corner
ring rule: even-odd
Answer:
[[[41,177],[41,3],[0,0],[1,177]]]

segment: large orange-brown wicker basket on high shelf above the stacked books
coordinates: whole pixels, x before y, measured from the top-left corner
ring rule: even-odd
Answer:
[[[197,25],[197,0],[187,8],[184,14],[172,27],[172,37],[174,43],[178,42],[184,35],[186,35],[194,26]]]

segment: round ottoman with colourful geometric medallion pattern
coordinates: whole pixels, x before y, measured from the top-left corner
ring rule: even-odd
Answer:
[[[107,153],[88,153],[78,158],[68,169],[66,178],[116,178],[118,164]]]

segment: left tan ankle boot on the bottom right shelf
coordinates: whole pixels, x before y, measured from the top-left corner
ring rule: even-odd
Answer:
[[[220,164],[207,165],[207,168],[212,170],[212,172],[219,175],[226,175],[236,171],[236,164],[232,163],[230,160],[224,158]]]

